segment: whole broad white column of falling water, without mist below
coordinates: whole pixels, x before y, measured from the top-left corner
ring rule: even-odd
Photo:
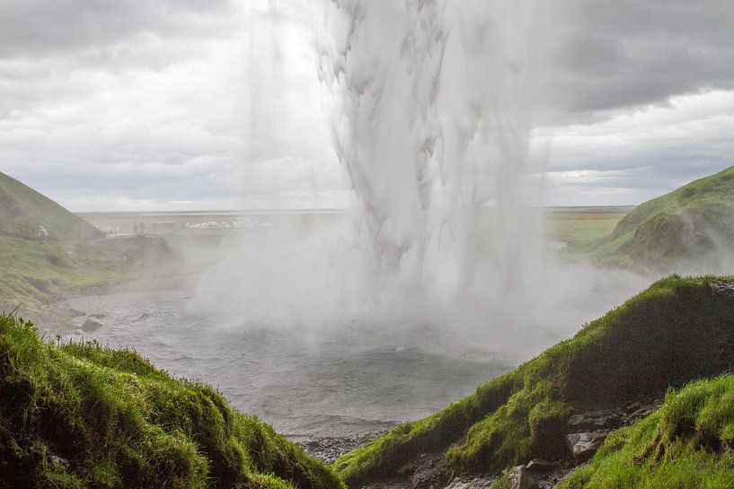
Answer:
[[[529,5],[335,0],[325,18],[319,73],[372,299],[400,283],[522,320],[542,252]]]

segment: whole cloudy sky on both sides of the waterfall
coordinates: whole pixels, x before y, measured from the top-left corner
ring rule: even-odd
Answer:
[[[324,1],[0,1],[0,171],[74,211],[345,205]],[[546,205],[734,164],[734,3],[536,4]]]

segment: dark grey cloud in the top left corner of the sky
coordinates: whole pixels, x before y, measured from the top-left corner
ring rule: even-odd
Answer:
[[[0,118],[84,100],[104,75],[200,61],[241,29],[236,9],[234,0],[4,0]]]

